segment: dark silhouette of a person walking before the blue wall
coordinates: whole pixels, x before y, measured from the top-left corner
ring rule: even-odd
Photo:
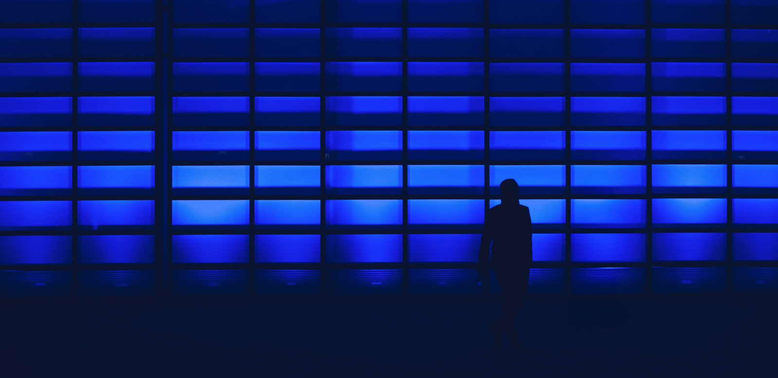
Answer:
[[[489,275],[489,247],[492,249],[492,271],[502,289],[501,311],[489,323],[492,341],[499,350],[503,347],[500,334],[507,332],[509,347],[521,348],[514,319],[527,298],[530,266],[532,264],[532,221],[530,209],[519,205],[519,185],[507,179],[499,184],[503,201],[486,212],[481,248],[478,250],[478,275]]]

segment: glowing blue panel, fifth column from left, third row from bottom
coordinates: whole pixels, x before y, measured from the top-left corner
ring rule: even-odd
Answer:
[[[328,229],[400,229],[402,200],[327,200]]]

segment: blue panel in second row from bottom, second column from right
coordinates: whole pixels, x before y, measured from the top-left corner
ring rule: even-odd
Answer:
[[[726,233],[654,233],[654,261],[724,261]]]

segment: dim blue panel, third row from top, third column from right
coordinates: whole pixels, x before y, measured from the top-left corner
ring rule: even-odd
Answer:
[[[646,90],[646,64],[570,63],[570,90],[643,92]]]

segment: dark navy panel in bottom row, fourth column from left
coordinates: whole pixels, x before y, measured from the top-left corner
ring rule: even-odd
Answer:
[[[321,271],[257,269],[254,271],[254,292],[261,295],[321,294]]]

